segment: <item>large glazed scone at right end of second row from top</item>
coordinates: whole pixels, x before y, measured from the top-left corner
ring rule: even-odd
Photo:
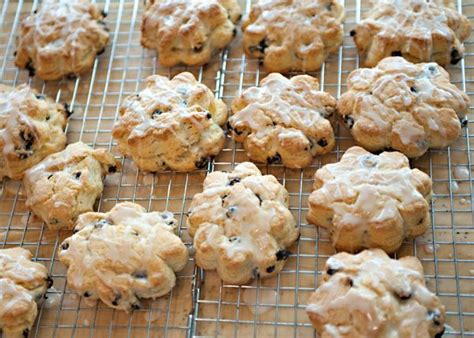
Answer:
[[[347,90],[337,110],[357,143],[412,158],[453,143],[469,110],[469,97],[449,82],[442,67],[401,57],[354,70]]]

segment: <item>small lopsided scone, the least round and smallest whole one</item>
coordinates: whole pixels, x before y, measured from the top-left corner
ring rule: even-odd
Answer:
[[[106,149],[70,144],[26,172],[26,206],[49,229],[71,229],[77,216],[93,210],[104,188],[102,179],[118,167],[120,163]]]

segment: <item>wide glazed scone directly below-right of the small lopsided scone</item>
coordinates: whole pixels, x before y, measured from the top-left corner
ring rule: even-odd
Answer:
[[[130,202],[80,215],[75,234],[59,250],[68,286],[87,303],[100,299],[125,311],[139,309],[140,298],[169,293],[175,272],[188,261],[176,226],[171,212],[147,213]]]

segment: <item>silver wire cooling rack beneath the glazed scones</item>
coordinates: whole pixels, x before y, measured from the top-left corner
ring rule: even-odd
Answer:
[[[241,145],[231,139],[207,170],[187,174],[138,171],[115,149],[111,129],[119,104],[128,94],[142,88],[151,74],[174,76],[190,71],[227,104],[243,89],[255,85],[266,74],[258,61],[243,53],[240,34],[232,45],[216,55],[206,67],[163,68],[155,52],[140,46],[141,1],[105,1],[106,22],[111,41],[98,57],[92,71],[75,80],[43,82],[29,78],[13,63],[20,19],[38,7],[38,1],[4,0],[0,9],[0,81],[9,85],[27,82],[74,110],[67,127],[69,143],[83,141],[104,147],[122,160],[123,171],[109,176],[97,208],[109,210],[117,202],[134,201],[149,210],[170,210],[180,221],[179,234],[192,248],[185,213],[192,196],[200,192],[207,171],[228,170],[247,160]],[[251,1],[242,1],[248,11]],[[360,20],[368,1],[346,0],[344,45],[329,57],[321,70],[323,90],[338,97],[345,91],[348,74],[359,60],[348,32]],[[472,19],[474,1],[457,2],[459,11]],[[465,43],[466,55],[450,66],[452,82],[474,102],[474,37]],[[318,286],[324,262],[334,253],[328,234],[306,223],[307,198],[312,175],[321,165],[337,161],[354,144],[347,130],[335,121],[337,144],[330,154],[315,159],[310,168],[289,170],[280,165],[260,166],[275,175],[290,193],[290,209],[301,229],[293,255],[276,277],[246,286],[221,283],[215,272],[195,267],[191,255],[178,274],[177,285],[168,296],[145,301],[141,310],[126,314],[98,302],[86,305],[67,288],[65,268],[57,259],[57,248],[69,232],[48,231],[25,207],[20,182],[4,180],[0,185],[0,247],[22,246],[43,263],[54,278],[32,332],[34,337],[310,337],[315,333],[304,308]],[[462,136],[450,148],[431,151],[412,164],[430,174],[434,182],[431,203],[432,228],[416,241],[403,244],[398,256],[416,255],[423,263],[427,285],[446,305],[446,336],[474,336],[474,201],[472,150],[474,115]]]

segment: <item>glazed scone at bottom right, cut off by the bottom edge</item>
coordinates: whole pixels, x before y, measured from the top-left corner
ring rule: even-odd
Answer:
[[[425,285],[416,257],[390,259],[382,250],[339,253],[306,312],[322,338],[441,337],[445,308]]]

